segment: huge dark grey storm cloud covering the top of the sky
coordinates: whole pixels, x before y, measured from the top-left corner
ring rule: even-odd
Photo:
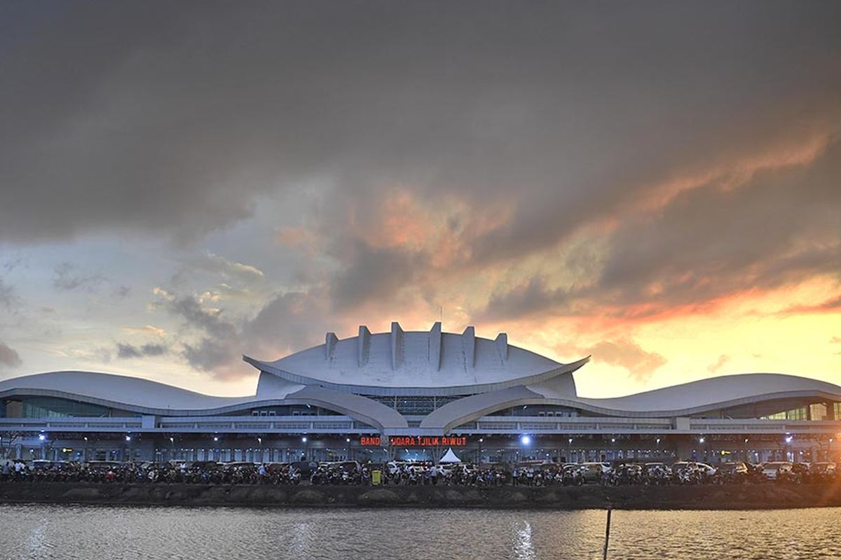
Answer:
[[[15,241],[196,235],[331,175],[337,204],[395,182],[516,200],[474,251],[503,259],[837,102],[837,3],[2,9],[0,239]]]

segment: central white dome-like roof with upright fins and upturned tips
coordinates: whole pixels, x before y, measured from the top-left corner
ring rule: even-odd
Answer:
[[[324,344],[273,362],[244,359],[294,383],[373,395],[495,390],[550,379],[586,361],[570,368],[510,346],[504,333],[490,340],[476,337],[473,327],[462,334],[441,332],[441,323],[429,332],[404,332],[396,322],[391,332],[372,334],[359,327],[357,337],[343,340],[328,332]]]

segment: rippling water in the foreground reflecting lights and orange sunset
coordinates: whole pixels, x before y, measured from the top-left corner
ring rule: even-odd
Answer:
[[[0,558],[601,557],[605,512],[0,505]],[[609,557],[841,558],[841,509],[613,512]]]

